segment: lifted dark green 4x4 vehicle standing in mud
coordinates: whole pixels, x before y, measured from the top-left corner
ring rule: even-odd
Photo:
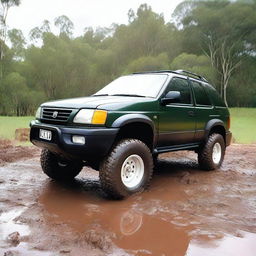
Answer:
[[[200,168],[213,170],[231,141],[229,111],[216,90],[183,70],[134,73],[90,97],[44,103],[30,126],[49,177],[72,179],[89,165],[115,198],[147,188],[160,153],[193,150]]]

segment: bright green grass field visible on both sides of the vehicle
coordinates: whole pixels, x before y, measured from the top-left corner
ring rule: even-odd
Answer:
[[[236,143],[256,143],[256,108],[231,108],[231,131]],[[29,127],[33,119],[0,116],[0,137],[14,139],[16,128]],[[254,130],[255,129],[255,130]]]

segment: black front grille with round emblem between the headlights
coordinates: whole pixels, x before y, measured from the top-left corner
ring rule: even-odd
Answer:
[[[72,109],[63,108],[43,108],[42,119],[53,122],[67,122]]]

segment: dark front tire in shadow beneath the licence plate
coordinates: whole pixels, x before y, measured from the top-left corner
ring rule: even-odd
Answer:
[[[59,181],[72,180],[83,168],[81,162],[61,159],[47,149],[42,150],[40,161],[43,172],[50,178]]]

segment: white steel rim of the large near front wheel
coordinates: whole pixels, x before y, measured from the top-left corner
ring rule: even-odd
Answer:
[[[139,155],[128,156],[121,168],[121,180],[127,188],[138,186],[144,175],[144,163]]]

